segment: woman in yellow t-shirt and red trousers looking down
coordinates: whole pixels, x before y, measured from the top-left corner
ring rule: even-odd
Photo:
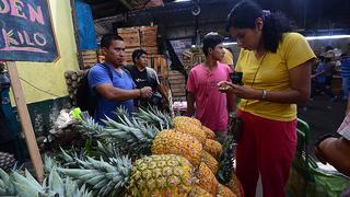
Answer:
[[[240,2],[229,14],[228,30],[242,47],[235,71],[243,72],[244,85],[218,85],[242,99],[236,173],[247,197],[255,197],[259,174],[264,197],[284,196],[296,147],[295,104],[310,96],[315,55],[290,24],[252,1]]]

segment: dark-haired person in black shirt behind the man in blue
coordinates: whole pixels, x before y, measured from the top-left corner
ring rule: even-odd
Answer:
[[[126,67],[138,89],[143,86],[152,88],[152,96],[150,99],[136,99],[136,107],[156,106],[162,109],[162,104],[167,101],[165,90],[161,85],[155,70],[148,67],[148,54],[143,49],[136,49],[132,53],[133,66]]]

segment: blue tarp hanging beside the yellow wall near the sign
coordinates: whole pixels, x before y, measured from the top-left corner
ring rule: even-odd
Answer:
[[[75,15],[80,38],[80,49],[91,50],[97,48],[96,33],[92,11],[88,3],[75,1]]]

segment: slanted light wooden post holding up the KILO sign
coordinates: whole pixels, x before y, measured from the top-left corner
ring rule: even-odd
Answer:
[[[34,129],[32,126],[30,113],[23,96],[22,85],[19,78],[18,68],[14,61],[7,61],[8,70],[11,80],[11,88],[14,95],[14,101],[19,111],[22,130],[25,136],[27,149],[30,151],[31,160],[34,166],[35,175],[39,182],[44,181],[44,166],[43,160],[39,153],[39,149],[36,143]]]

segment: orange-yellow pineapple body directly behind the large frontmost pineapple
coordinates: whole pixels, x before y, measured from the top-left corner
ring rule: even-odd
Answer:
[[[202,146],[187,134],[166,130],[155,136],[151,151],[152,154],[182,155],[197,167],[201,161]]]

